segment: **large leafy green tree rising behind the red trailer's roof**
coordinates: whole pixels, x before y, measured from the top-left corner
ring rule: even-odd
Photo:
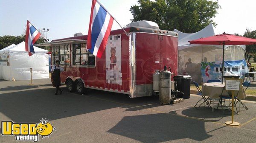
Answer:
[[[154,21],[160,29],[194,33],[206,27],[217,14],[218,1],[208,0],[138,0],[131,6],[132,22]]]

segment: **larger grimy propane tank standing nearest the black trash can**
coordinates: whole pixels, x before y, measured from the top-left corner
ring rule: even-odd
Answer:
[[[159,101],[160,104],[170,104],[171,102],[171,72],[164,66],[160,72]]]

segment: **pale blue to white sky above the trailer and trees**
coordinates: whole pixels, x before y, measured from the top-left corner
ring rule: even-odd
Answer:
[[[132,19],[131,6],[137,0],[99,0],[124,26]],[[256,30],[255,0],[219,0],[214,22],[220,33],[244,34],[246,28]],[[91,0],[0,0],[0,36],[25,33],[26,20],[37,29],[49,28],[47,39],[60,39],[75,33],[88,33]],[[119,29],[114,22],[113,29]],[[44,33],[45,34],[45,33]]]

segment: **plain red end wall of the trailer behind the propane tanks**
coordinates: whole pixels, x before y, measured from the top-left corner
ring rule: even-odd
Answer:
[[[171,67],[177,75],[177,37],[157,34],[136,34],[136,84],[152,84],[154,70]],[[156,63],[159,61],[159,63]]]

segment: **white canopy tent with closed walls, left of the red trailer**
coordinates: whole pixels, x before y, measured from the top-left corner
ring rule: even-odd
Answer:
[[[35,54],[29,56],[25,51],[25,42],[8,47],[0,50],[0,79],[29,80],[30,68],[32,79],[49,78],[48,50],[34,46]]]

